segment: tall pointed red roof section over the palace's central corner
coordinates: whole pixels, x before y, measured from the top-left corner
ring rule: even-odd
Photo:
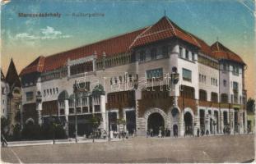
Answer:
[[[174,22],[170,21],[166,16],[162,17],[155,25],[151,25],[144,33],[139,34],[133,42],[132,48],[153,43],[163,39],[179,38],[194,46],[200,47],[197,40],[186,31],[179,28]]]

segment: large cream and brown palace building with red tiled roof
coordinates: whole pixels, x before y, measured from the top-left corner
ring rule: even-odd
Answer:
[[[243,60],[211,46],[166,16],[149,27],[97,43],[40,56],[21,71],[24,124],[63,122],[67,134],[101,130],[145,135],[246,132]]]

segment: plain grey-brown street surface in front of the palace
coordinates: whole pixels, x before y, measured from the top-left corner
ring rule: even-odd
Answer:
[[[1,155],[2,162],[12,163],[252,162],[254,135],[20,146],[2,148]]]

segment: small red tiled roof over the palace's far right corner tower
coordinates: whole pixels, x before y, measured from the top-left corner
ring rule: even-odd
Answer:
[[[245,65],[244,61],[239,55],[237,55],[235,52],[230,51],[229,48],[226,48],[223,44],[219,42],[213,43],[211,46],[211,50],[213,56],[218,60],[226,59]]]

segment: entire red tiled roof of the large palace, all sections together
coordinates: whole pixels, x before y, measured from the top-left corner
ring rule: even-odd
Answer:
[[[95,53],[97,57],[101,57],[103,52],[105,52],[107,56],[110,56],[128,52],[131,48],[137,46],[170,38],[182,39],[185,42],[198,47],[199,51],[210,57],[216,59],[226,58],[244,64],[242,59],[228,48],[225,48],[222,45],[223,48],[221,47],[222,49],[218,50],[216,49],[215,44],[210,47],[202,39],[182,30],[173,21],[170,21],[169,18],[164,16],[160,21],[157,21],[156,24],[142,28],[141,30],[121,34],[110,39],[101,40],[66,52],[59,52],[49,57],[38,57],[34,62],[30,63],[29,66],[26,66],[26,68],[21,71],[21,75],[29,74],[31,72],[44,72],[58,69],[67,64],[68,58],[74,60]]]

